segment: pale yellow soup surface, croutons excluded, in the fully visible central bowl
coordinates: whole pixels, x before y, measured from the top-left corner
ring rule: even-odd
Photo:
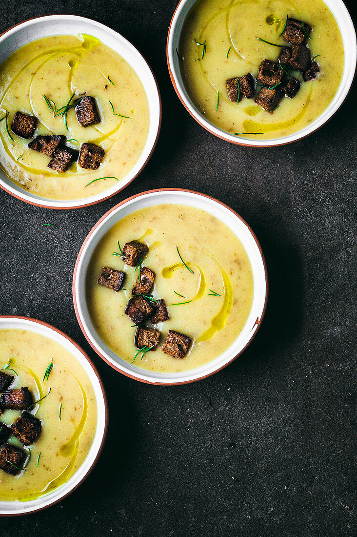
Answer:
[[[151,294],[154,299],[165,299],[170,315],[169,320],[155,326],[161,332],[157,349],[145,353],[143,359],[137,355],[134,365],[158,373],[177,373],[217,358],[242,331],[252,307],[252,267],[241,241],[212,214],[176,204],[141,209],[107,231],[88,266],[86,301],[101,339],[129,363],[137,351],[135,326],[124,312],[139,270],[134,272],[134,267],[113,252],[119,251],[117,241],[122,248],[133,240],[149,247],[142,266],[155,271]],[[176,246],[193,274],[181,262]],[[97,283],[103,266],[125,271],[124,290],[114,292]],[[146,324],[151,326],[149,321]],[[169,329],[192,339],[184,359],[162,351]]]

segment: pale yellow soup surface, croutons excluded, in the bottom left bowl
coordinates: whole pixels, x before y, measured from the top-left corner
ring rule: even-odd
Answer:
[[[0,501],[24,502],[60,487],[82,465],[96,431],[97,403],[82,366],[47,337],[27,330],[0,330],[0,367],[10,360],[9,367],[17,373],[5,371],[15,377],[11,388],[27,386],[34,401],[49,393],[31,409],[42,422],[38,440],[29,447],[14,436],[8,440],[28,454],[25,469],[17,476],[0,469]],[[52,371],[43,381],[52,360]],[[4,410],[0,422],[10,425],[19,416],[16,410]]]

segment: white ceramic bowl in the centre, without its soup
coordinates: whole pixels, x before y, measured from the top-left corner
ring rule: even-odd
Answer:
[[[252,309],[243,331],[235,342],[221,356],[209,362],[205,366],[185,371],[183,373],[153,373],[145,371],[117,356],[99,337],[89,316],[85,300],[85,279],[88,264],[94,249],[101,237],[116,222],[134,211],[159,204],[180,204],[198,207],[203,211],[213,214],[233,231],[249,256],[254,279],[254,295]],[[103,360],[116,371],[133,379],[151,384],[184,384],[203,379],[216,373],[238,357],[251,342],[257,332],[265,313],[267,302],[267,273],[263,252],[261,251],[257,237],[248,224],[227,205],[210,198],[205,194],[188,190],[152,190],[137,194],[132,198],[122,201],[119,205],[108,211],[90,231],[79,251],[73,277],[73,299],[76,315],[81,325],[84,336],[93,349]]]

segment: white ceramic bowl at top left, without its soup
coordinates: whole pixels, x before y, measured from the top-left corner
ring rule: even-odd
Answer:
[[[27,43],[47,37],[49,35],[85,33],[98,38],[104,45],[112,48],[125,59],[139,76],[148,97],[149,103],[149,133],[143,152],[134,168],[124,177],[118,185],[108,188],[104,192],[77,200],[53,200],[31,194],[20,188],[0,170],[0,186],[14,197],[27,201],[32,205],[50,207],[53,209],[72,209],[94,205],[99,201],[110,198],[131,183],[142,171],[154,151],[161,126],[161,99],[154,74],[147,61],[132,43],[114,32],[111,28],[97,23],[96,20],[78,17],[76,15],[48,15],[26,20],[0,36],[0,64],[14,52],[14,50]]]

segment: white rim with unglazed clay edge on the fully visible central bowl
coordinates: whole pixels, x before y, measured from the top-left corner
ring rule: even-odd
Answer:
[[[163,196],[161,196],[163,194]],[[103,236],[104,232],[101,230],[104,229],[105,224],[108,220],[111,219],[112,214],[115,213],[115,215],[118,215],[118,217],[115,217],[115,221],[120,220],[120,211],[122,208],[125,208],[127,206],[133,205],[131,211],[128,212],[130,214],[133,211],[137,211],[140,209],[140,207],[135,206],[135,201],[137,199],[143,199],[145,203],[145,199],[150,198],[152,199],[152,204],[144,205],[145,207],[150,205],[156,205],[157,203],[160,203],[160,201],[157,201],[158,198],[164,197],[165,194],[174,194],[177,196],[177,200],[175,203],[177,204],[183,204],[183,205],[191,205],[195,206],[193,203],[188,204],[187,202],[183,201],[186,196],[192,197],[194,200],[195,198],[202,198],[204,201],[209,200],[209,204],[211,205],[211,208],[219,208],[220,210],[224,211],[225,214],[231,215],[239,221],[239,225],[243,224],[245,231],[248,233],[248,236],[250,240],[252,240],[252,244],[254,244],[254,248],[257,248],[256,252],[254,252],[254,255],[257,256],[257,259],[259,261],[258,264],[261,263],[261,265],[257,268],[256,271],[259,273],[260,280],[263,281],[264,278],[264,291],[261,293],[261,296],[259,295],[257,298],[259,307],[256,309],[259,310],[259,315],[257,316],[257,320],[255,322],[252,322],[252,329],[250,330],[250,336],[249,339],[244,342],[244,346],[239,347],[237,351],[231,351],[231,348],[236,344],[238,338],[240,335],[238,335],[237,339],[234,343],[232,343],[231,347],[225,351],[224,353],[227,353],[230,351],[229,358],[225,359],[223,363],[220,365],[213,366],[214,362],[218,362],[221,357],[217,357],[215,360],[212,360],[205,366],[201,366],[196,369],[188,370],[184,373],[179,374],[160,374],[160,373],[152,373],[145,371],[144,369],[141,369],[139,367],[135,367],[132,365],[129,365],[128,362],[120,359],[120,362],[116,361],[115,359],[111,358],[109,353],[113,353],[101,340],[99,335],[97,335],[96,330],[94,326],[92,325],[90,321],[90,317],[88,314],[88,308],[86,307],[85,302],[85,293],[83,294],[83,289],[85,287],[85,279],[86,279],[86,268],[88,266],[90,257],[92,255],[92,251],[95,248],[95,246],[98,244],[100,238]],[[203,202],[202,201],[202,204]],[[165,201],[162,201],[163,203]],[[202,207],[200,207],[202,209]],[[205,210],[205,209],[202,209]],[[207,209],[206,209],[207,210]],[[213,214],[213,213],[212,213]],[[229,216],[227,216],[228,218]],[[222,219],[221,219],[222,220]],[[223,221],[223,220],[222,220]],[[224,222],[224,221],[223,221]],[[236,234],[236,236],[239,238],[239,240],[242,241],[242,236],[239,237],[238,232],[236,233],[230,226],[227,224],[227,222],[224,222],[232,231]],[[111,223],[111,226],[113,226],[114,222]],[[246,239],[246,242],[243,246],[246,248],[248,239]],[[91,251],[89,251],[89,249]],[[258,254],[259,252],[259,254]],[[249,254],[248,254],[249,255]],[[250,262],[252,263],[252,259],[249,256]],[[254,272],[254,268],[252,265],[252,269]],[[260,281],[260,284],[261,284]],[[254,280],[254,293],[256,292],[256,282]],[[210,375],[213,375],[214,373],[217,373],[224,367],[227,367],[232,361],[234,361],[245,349],[246,347],[251,343],[252,339],[257,333],[257,330],[259,329],[259,326],[261,324],[261,321],[263,321],[263,317],[266,310],[267,305],[267,298],[268,298],[268,278],[267,278],[267,270],[266,270],[266,264],[265,259],[263,255],[263,251],[261,250],[261,246],[257,240],[256,235],[254,235],[252,229],[250,226],[243,220],[241,216],[239,216],[233,209],[231,209],[228,205],[223,204],[221,201],[216,200],[215,198],[212,198],[206,194],[202,194],[199,192],[194,192],[192,190],[186,190],[184,188],[162,188],[157,190],[150,190],[147,192],[142,192],[140,194],[136,194],[126,200],[123,200],[120,204],[116,205],[110,211],[108,211],[104,216],[101,217],[101,219],[95,224],[95,226],[91,229],[88,236],[85,238],[85,241],[82,245],[81,250],[79,250],[78,257],[75,264],[75,270],[73,275],[73,284],[72,284],[72,293],[73,293],[73,300],[74,300],[74,307],[76,311],[76,316],[79,325],[81,326],[81,329],[83,331],[83,334],[85,338],[88,340],[88,343],[92,346],[94,351],[113,369],[116,371],[119,371],[120,373],[129,376],[132,379],[139,380],[141,382],[146,382],[149,384],[159,384],[159,385],[174,385],[174,384],[186,384],[189,382],[195,382],[200,379],[204,379]],[[250,316],[241,332],[241,335],[244,333],[245,327],[248,325],[251,317],[252,317],[252,311],[254,306],[254,297],[253,297],[253,305],[252,310],[250,313]],[[255,317],[255,314],[253,315]],[[87,318],[89,320],[89,323],[91,326],[89,326],[89,323],[87,321]],[[250,326],[250,325],[249,325]],[[222,355],[224,355],[224,353]],[[113,353],[115,355],[115,353]],[[203,370],[207,370],[205,373],[203,373]],[[179,378],[178,378],[179,377]]]

